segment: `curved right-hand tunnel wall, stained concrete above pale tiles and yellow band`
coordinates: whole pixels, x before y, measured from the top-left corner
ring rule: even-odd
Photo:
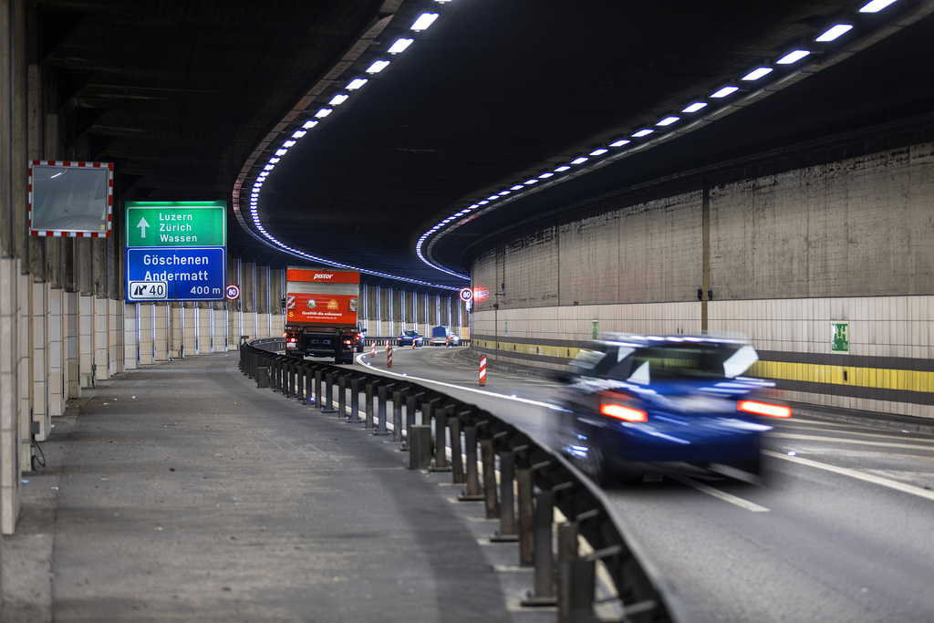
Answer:
[[[934,144],[586,209],[476,254],[474,348],[743,333],[789,400],[934,418]]]

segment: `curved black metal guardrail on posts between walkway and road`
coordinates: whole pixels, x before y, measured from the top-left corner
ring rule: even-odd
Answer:
[[[563,457],[488,411],[436,389],[359,367],[277,354],[270,350],[274,343],[265,340],[257,346],[241,345],[241,371],[255,378],[259,387],[297,397],[321,413],[334,413],[349,422],[362,421],[364,428],[375,435],[392,434],[393,440],[402,442],[403,449],[409,451],[410,469],[451,472],[454,483],[466,485],[459,500],[483,501],[487,518],[500,519],[500,530],[491,540],[516,541],[520,563],[533,569],[534,586],[522,601],[524,605],[557,605],[558,620],[562,622],[592,620],[598,601],[602,610],[613,610],[620,621],[685,620],[644,554],[634,551],[633,540],[607,511],[601,490]],[[351,391],[349,408],[347,389]],[[334,391],[338,394],[337,408]],[[361,393],[365,396],[362,414]],[[421,413],[419,423],[416,411]],[[432,418],[436,447],[433,457]],[[452,465],[446,460],[448,437],[453,446]],[[497,460],[500,486],[495,474]],[[564,517],[557,526],[557,539],[553,538],[556,509]],[[584,537],[591,549],[582,551],[578,536]],[[553,546],[556,542],[557,549]],[[615,594],[598,596],[598,562],[606,570]],[[601,620],[612,619],[601,612]]]

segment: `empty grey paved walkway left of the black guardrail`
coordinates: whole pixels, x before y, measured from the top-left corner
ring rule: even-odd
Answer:
[[[236,353],[97,384],[54,418],[0,549],[2,620],[553,621],[450,474],[287,399]]]

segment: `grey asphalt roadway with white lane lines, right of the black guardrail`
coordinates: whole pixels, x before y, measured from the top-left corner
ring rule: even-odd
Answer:
[[[397,348],[356,365],[438,384],[545,443],[554,383],[461,349]],[[776,421],[765,484],[658,476],[607,491],[694,621],[934,621],[934,439]]]

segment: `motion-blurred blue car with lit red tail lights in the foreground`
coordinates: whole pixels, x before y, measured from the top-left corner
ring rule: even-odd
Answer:
[[[582,350],[556,395],[553,443],[598,484],[646,471],[701,468],[755,480],[763,435],[791,409],[742,376],[758,356],[743,340],[601,336]]]

